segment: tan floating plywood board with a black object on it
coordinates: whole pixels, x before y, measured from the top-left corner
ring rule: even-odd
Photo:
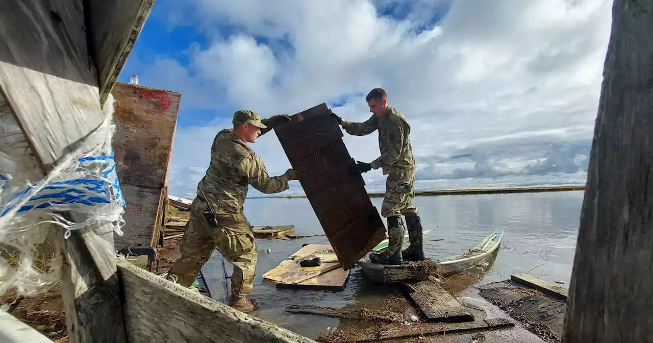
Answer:
[[[300,261],[320,257],[319,267],[301,267]],[[277,267],[263,274],[263,281],[278,288],[342,291],[349,269],[342,269],[336,253],[327,244],[308,244]]]

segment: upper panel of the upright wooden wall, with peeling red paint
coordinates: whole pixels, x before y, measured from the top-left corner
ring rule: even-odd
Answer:
[[[116,83],[112,144],[120,184],[163,188],[167,178],[180,93]]]

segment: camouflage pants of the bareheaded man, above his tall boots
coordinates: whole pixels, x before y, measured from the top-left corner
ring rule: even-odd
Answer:
[[[415,197],[415,170],[390,172],[385,180],[381,216],[417,216],[413,197]]]

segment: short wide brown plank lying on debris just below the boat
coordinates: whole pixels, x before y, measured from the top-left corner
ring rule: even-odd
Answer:
[[[470,312],[456,301],[447,291],[431,281],[412,284],[414,292],[409,292],[410,299],[417,304],[424,316],[432,321],[473,321]]]

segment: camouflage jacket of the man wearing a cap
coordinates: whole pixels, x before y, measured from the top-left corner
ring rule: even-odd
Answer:
[[[213,140],[211,163],[206,175],[197,185],[219,215],[242,215],[247,197],[247,185],[263,193],[279,193],[288,188],[286,176],[268,176],[263,161],[247,144],[233,134],[232,129],[223,129]]]

